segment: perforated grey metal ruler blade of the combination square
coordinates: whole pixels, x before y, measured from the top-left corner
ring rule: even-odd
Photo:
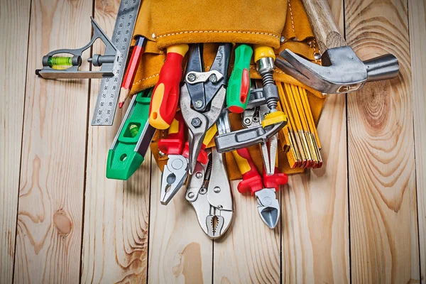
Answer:
[[[116,59],[112,70],[114,75],[103,77],[101,80],[92,125],[112,125],[114,121],[121,81],[124,77],[127,55],[140,5],[141,0],[121,0],[120,2],[111,40],[116,47]]]

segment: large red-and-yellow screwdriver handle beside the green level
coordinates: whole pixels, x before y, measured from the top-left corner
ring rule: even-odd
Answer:
[[[167,48],[167,56],[149,106],[149,124],[156,129],[168,129],[175,117],[182,79],[182,60],[187,51],[187,44],[170,45]]]

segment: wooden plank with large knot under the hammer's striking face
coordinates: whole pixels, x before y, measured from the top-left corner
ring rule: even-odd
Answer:
[[[398,78],[348,95],[354,283],[420,280],[408,1],[346,0],[346,40],[363,60],[393,53]]]

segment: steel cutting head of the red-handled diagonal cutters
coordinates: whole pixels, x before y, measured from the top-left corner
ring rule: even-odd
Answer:
[[[258,212],[263,223],[273,229],[278,224],[280,218],[280,203],[275,195],[274,188],[263,188],[254,193],[258,202]]]

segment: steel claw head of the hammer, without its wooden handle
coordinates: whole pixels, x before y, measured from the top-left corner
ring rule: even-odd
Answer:
[[[340,94],[359,89],[364,82],[386,80],[398,75],[398,60],[393,55],[384,55],[377,60],[361,61],[349,46],[329,48],[322,53],[322,66],[312,63],[286,49],[277,58],[275,65],[303,84],[324,94]],[[379,74],[369,76],[368,72]]]

